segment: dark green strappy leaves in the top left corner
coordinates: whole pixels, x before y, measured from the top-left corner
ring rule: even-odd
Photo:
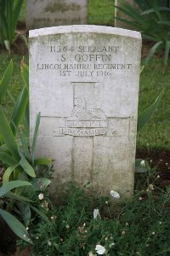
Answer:
[[[15,31],[23,0],[15,2],[14,4],[14,0],[0,0],[0,44],[8,50],[16,38]]]

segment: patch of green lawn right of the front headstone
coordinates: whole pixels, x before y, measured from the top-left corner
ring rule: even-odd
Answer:
[[[137,137],[139,148],[145,148],[149,144],[149,148],[170,150],[170,69],[165,71],[162,59],[155,57],[150,65],[144,67],[140,77],[139,113],[156,99],[163,88],[165,92],[156,113],[139,131]]]

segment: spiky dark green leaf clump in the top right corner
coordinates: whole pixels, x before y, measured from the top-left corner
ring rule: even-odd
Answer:
[[[166,0],[135,0],[138,8],[134,8],[125,1],[121,7],[116,7],[128,19],[116,18],[132,26],[142,33],[144,39],[154,41],[156,44],[150,49],[146,63],[158,49],[164,49],[164,65],[167,65],[170,50],[170,3]],[[129,17],[131,20],[129,20]]]

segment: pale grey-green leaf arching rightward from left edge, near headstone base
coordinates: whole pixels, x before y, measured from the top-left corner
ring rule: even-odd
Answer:
[[[23,187],[23,186],[31,186],[31,183],[28,183],[23,180],[16,180],[16,181],[11,181],[8,183],[4,183],[3,186],[0,188],[0,197],[8,193],[10,190],[18,188],[18,187]]]

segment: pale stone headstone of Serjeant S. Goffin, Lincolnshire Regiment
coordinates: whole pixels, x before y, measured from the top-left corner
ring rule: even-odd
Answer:
[[[30,31],[31,137],[54,160],[51,194],[91,182],[132,195],[139,98],[139,32],[106,26]]]

